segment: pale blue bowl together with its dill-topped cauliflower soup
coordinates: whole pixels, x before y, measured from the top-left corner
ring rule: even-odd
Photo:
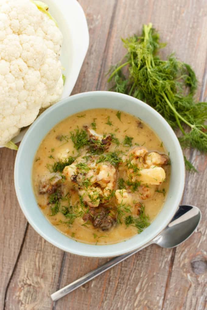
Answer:
[[[92,257],[151,241],[177,210],[184,176],[167,122],[112,92],[74,95],[49,108],[25,135],[15,164],[30,224],[61,249]]]

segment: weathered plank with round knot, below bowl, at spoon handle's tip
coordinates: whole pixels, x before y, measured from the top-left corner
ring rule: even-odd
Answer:
[[[63,255],[29,225],[4,309],[52,309],[49,292],[56,290]]]

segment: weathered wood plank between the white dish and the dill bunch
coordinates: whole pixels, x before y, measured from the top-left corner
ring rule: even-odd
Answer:
[[[99,1],[99,3],[93,0],[79,0],[79,3],[87,18],[90,43],[72,94],[97,90],[107,38],[111,31],[110,20],[116,7],[116,0]]]

